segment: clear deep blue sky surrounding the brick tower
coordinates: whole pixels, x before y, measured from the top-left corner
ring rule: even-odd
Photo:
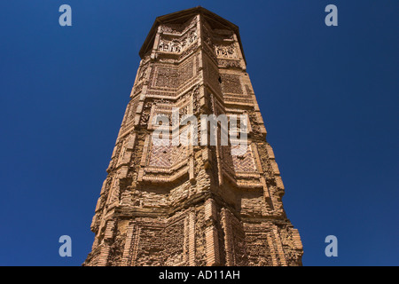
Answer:
[[[197,5],[239,26],[303,264],[398,265],[395,0],[1,1],[0,265],[82,264],[138,50],[157,16]]]

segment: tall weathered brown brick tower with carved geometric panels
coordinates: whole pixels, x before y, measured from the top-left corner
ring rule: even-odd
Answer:
[[[239,28],[202,7],[171,13],[139,55],[83,265],[301,265]],[[155,145],[153,118],[167,115],[172,136],[176,108],[199,129],[201,114],[246,115],[246,152],[231,155],[237,146],[220,141]],[[187,125],[177,133],[200,137]]]

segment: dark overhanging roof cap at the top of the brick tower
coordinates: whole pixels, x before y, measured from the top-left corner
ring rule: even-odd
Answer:
[[[202,17],[202,19],[207,20],[207,23],[212,28],[228,29],[228,30],[233,31],[237,36],[237,40],[239,42],[239,47],[241,48],[243,59],[246,61],[246,58],[244,55],[244,50],[242,48],[241,38],[239,36],[239,27],[234,25],[233,23],[231,23],[231,21],[225,20],[221,16],[215,14],[214,12],[210,12],[209,10],[207,10],[201,6],[193,7],[193,8],[178,11],[178,12],[172,12],[172,13],[157,17],[153,23],[153,27],[150,29],[150,32],[148,33],[147,37],[145,38],[145,42],[143,43],[140,51],[138,51],[138,55],[143,59],[145,54],[151,50],[151,48],[153,46],[153,42],[155,40],[155,36],[157,34],[157,29],[161,24],[184,23],[185,21],[192,19],[193,16],[196,16],[199,14]]]

